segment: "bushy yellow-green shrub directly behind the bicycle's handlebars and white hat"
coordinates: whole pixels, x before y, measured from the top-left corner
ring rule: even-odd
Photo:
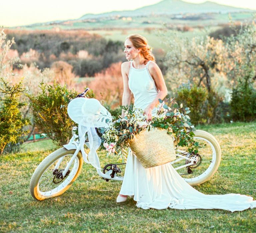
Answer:
[[[77,92],[56,82],[53,85],[41,83],[40,88],[41,92],[37,96],[28,95],[35,124],[56,145],[67,144],[72,135],[72,126],[75,125],[67,114],[67,106],[77,96]],[[89,91],[87,97],[94,98],[95,95]]]

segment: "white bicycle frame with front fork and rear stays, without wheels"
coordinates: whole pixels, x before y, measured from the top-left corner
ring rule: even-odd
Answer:
[[[66,175],[66,173],[67,173],[69,167],[71,166],[72,162],[74,161],[74,159],[76,158],[77,154],[78,154],[79,151],[80,151],[80,143],[79,143],[79,140],[76,140],[76,139],[78,139],[78,138],[79,138],[79,136],[76,135],[76,134],[74,134],[74,135],[72,136],[72,138],[70,139],[69,143],[66,144],[66,145],[64,145],[64,147],[65,147],[67,150],[75,149],[76,151],[75,151],[75,153],[73,154],[73,156],[71,157],[71,159],[69,160],[67,166],[65,167],[65,169],[64,169],[64,171],[63,171],[63,173],[62,173],[63,176]],[[85,145],[90,149],[88,142],[85,142]],[[179,157],[179,158],[176,159],[176,160],[174,160],[174,161],[172,161],[172,162],[170,162],[171,164],[174,164],[174,163],[176,163],[176,162],[178,162],[178,161],[180,161],[180,160],[182,160],[182,159],[189,160],[190,163],[187,163],[187,164],[185,164],[185,165],[176,167],[175,170],[178,170],[178,169],[181,169],[181,168],[183,168],[183,167],[187,167],[187,166],[193,165],[193,164],[196,162],[196,158],[195,158],[195,157],[192,157],[192,158],[190,157],[190,158],[189,158],[189,155],[190,155],[190,154],[189,154],[188,152],[183,151],[183,150],[177,150],[177,152],[178,152],[178,153],[176,154],[176,156]],[[179,153],[181,153],[181,154],[179,154]],[[186,154],[187,156],[184,156],[184,155],[182,155],[182,154]],[[55,165],[55,168],[54,168],[54,169],[58,169],[58,168],[59,168],[59,166],[60,166],[62,160],[63,160],[63,158],[60,158],[60,159],[58,160],[58,162],[57,162],[57,164]],[[98,164],[98,166],[101,167],[100,164]],[[107,171],[106,173],[103,173],[103,172],[101,171],[101,169],[98,169],[98,168],[96,168],[96,170],[97,170],[97,173],[99,174],[99,176],[101,176],[101,177],[103,177],[103,178],[105,178],[105,179],[108,179],[108,180],[119,180],[119,181],[122,181],[122,180],[123,180],[123,177],[122,177],[122,176],[117,176],[116,173],[114,174],[114,177],[112,178],[112,177],[111,177],[112,170],[109,170],[109,171]]]

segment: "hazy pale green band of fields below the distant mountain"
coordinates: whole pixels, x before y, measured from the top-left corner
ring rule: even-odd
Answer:
[[[60,23],[45,23],[32,24],[28,26],[16,27],[18,29],[29,30],[55,30],[56,28],[63,30],[70,29],[129,29],[129,28],[162,28],[163,24],[167,26],[188,25],[190,27],[205,27],[218,26],[229,22],[229,16],[233,21],[245,22],[251,20],[252,12],[238,12],[238,13],[208,13],[208,14],[184,14],[176,18],[174,15],[150,15],[150,16],[135,16],[135,17],[112,17],[112,18],[98,18],[88,20],[67,20]]]

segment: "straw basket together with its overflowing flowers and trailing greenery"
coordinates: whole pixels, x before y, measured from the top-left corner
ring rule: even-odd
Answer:
[[[189,108],[159,99],[156,116],[147,121],[142,109],[134,108],[124,117],[109,122],[102,128],[101,148],[120,157],[127,154],[130,147],[145,168],[161,165],[175,160],[175,146],[186,146],[188,151],[197,153],[198,143],[193,140],[194,125],[190,122]]]

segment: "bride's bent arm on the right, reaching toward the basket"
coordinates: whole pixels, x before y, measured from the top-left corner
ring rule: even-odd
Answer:
[[[162,72],[158,65],[154,62],[151,62],[148,66],[149,73],[155,81],[156,87],[158,88],[158,94],[152,103],[144,110],[145,115],[147,115],[148,120],[152,119],[152,110],[159,104],[159,99],[163,100],[167,95],[167,88],[164,82]]]

